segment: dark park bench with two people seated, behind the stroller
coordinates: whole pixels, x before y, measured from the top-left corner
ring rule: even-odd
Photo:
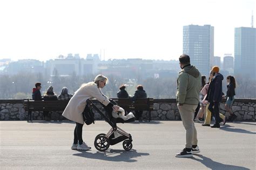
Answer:
[[[126,111],[148,111],[148,120],[151,121],[151,111],[154,110],[153,98],[137,99],[136,101],[131,101],[129,98],[114,98],[113,100]]]

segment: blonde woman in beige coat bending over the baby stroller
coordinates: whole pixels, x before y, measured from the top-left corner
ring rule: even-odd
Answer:
[[[75,92],[74,96],[69,100],[62,115],[72,121],[76,122],[74,131],[74,141],[71,149],[89,150],[91,147],[87,146],[82,139],[82,131],[84,125],[83,111],[86,106],[86,100],[96,98],[100,103],[107,107],[113,107],[118,110],[119,106],[110,103],[110,100],[102,93],[102,88],[106,85],[107,78],[102,75],[96,76],[95,80],[82,86]]]

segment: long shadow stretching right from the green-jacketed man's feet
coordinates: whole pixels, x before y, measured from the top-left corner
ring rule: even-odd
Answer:
[[[221,164],[220,162],[216,162],[210,158],[204,157],[203,155],[198,155],[198,154],[196,154],[196,155],[201,159],[198,159],[195,157],[193,157],[192,159],[201,162],[207,168],[210,168],[210,169],[225,169],[225,170],[226,169],[232,169],[232,170],[233,169],[243,169],[243,170],[248,169],[248,168],[241,167],[241,166]]]

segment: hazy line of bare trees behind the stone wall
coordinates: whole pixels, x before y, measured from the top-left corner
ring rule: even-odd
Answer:
[[[32,98],[32,88],[36,82],[42,83],[42,95],[48,87],[53,86],[53,91],[59,95],[62,87],[68,87],[69,93],[73,94],[83,83],[92,81],[97,74],[88,74],[86,76],[77,76],[75,72],[71,76],[62,77],[58,75],[57,70],[53,71],[53,76],[46,76],[43,73],[19,72],[15,75],[0,75],[0,99],[26,99]],[[110,98],[116,98],[119,86],[126,84],[127,92],[132,96],[136,91],[137,85],[141,84],[150,98],[168,99],[176,98],[177,77],[170,76],[165,78],[143,78],[141,74],[136,75],[134,79],[105,75],[109,79],[103,92]],[[178,76],[178,75],[177,75]],[[255,98],[256,82],[246,76],[236,77],[237,89],[236,98]],[[223,91],[226,93],[226,80],[223,80]]]

